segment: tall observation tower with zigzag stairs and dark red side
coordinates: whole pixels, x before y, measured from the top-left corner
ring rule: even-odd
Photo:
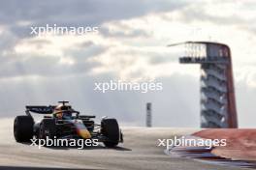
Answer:
[[[231,50],[217,42],[185,42],[181,64],[201,66],[201,128],[238,128]]]

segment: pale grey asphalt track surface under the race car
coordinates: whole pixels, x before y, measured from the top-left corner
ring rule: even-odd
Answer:
[[[124,144],[115,149],[103,146],[76,148],[42,148],[16,143],[13,137],[13,120],[0,120],[0,170],[45,169],[124,169],[124,170],[236,170],[203,163],[185,157],[164,154],[157,147],[157,139],[173,138],[195,132],[189,128],[122,128]]]

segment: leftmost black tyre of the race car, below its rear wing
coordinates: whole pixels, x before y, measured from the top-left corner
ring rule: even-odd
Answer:
[[[33,137],[34,120],[31,116],[16,116],[14,135],[16,142],[29,142]]]

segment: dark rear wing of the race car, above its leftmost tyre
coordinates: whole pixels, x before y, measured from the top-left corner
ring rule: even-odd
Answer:
[[[52,114],[55,105],[26,105],[26,114],[30,116],[30,112],[38,114]]]

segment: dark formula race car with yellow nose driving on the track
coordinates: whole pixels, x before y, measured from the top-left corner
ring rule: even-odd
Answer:
[[[26,115],[16,116],[14,134],[16,142],[29,142],[33,137],[38,139],[98,139],[107,147],[115,147],[123,142],[122,132],[115,119],[103,118],[97,125],[92,120],[95,116],[80,115],[79,111],[59,101],[59,105],[27,105]],[[44,114],[39,123],[35,123],[31,113]]]

